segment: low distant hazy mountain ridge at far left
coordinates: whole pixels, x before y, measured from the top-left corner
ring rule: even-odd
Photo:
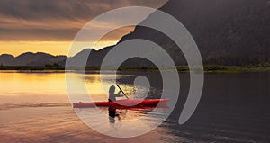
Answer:
[[[52,56],[42,52],[26,52],[18,57],[3,54],[0,55],[0,64],[3,66],[46,66],[54,64],[64,66],[63,61],[66,58],[66,56]]]

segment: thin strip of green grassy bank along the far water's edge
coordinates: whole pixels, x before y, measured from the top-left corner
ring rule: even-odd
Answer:
[[[170,69],[170,68],[165,68]],[[65,70],[65,67],[31,67],[31,66],[0,66],[0,70]],[[86,67],[87,71],[98,71],[100,67]],[[120,71],[157,71],[157,67],[120,67]],[[188,67],[177,67],[179,72],[188,72]],[[220,72],[252,72],[252,71],[270,71],[270,67],[225,67],[225,66],[204,66],[204,71],[209,73]]]

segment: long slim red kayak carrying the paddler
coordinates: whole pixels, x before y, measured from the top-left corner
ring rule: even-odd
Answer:
[[[103,107],[141,107],[166,105],[169,99],[126,99],[115,102],[97,102],[97,103],[73,103],[73,108],[93,108],[95,106]]]

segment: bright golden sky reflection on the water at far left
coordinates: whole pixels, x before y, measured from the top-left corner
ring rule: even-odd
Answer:
[[[0,73],[0,95],[66,95],[63,73]]]

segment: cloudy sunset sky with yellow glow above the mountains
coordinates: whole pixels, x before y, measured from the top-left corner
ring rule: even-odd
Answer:
[[[67,55],[76,33],[95,16],[124,6],[158,8],[167,0],[1,0],[0,55],[23,52]],[[109,25],[99,25],[108,29]],[[94,47],[115,44],[133,26],[112,31]],[[90,41],[91,42],[91,41]]]

